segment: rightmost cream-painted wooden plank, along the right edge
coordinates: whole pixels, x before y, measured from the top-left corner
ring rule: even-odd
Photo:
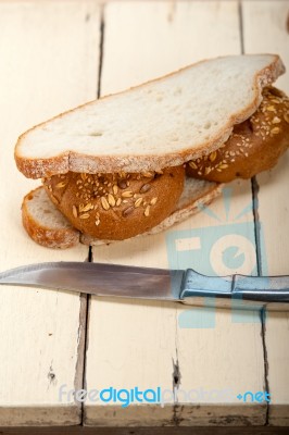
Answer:
[[[243,2],[246,52],[279,53],[289,67],[289,3],[288,1]],[[289,92],[289,75],[280,77],[277,86]],[[265,248],[261,252],[263,273],[288,274],[289,254],[289,156],[277,167],[257,176],[260,187],[259,219],[263,226]],[[267,382],[272,395],[268,423],[289,425],[289,316],[268,313],[265,322]]]

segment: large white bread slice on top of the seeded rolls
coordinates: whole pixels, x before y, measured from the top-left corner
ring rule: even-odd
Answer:
[[[32,178],[179,165],[223,145],[284,72],[274,54],[196,63],[29,129],[16,144],[16,164]]]

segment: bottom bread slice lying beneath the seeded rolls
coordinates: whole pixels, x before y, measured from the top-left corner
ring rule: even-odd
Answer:
[[[161,224],[144,234],[158,234],[177,222],[197,213],[221,192],[222,185],[194,178],[186,178],[184,192],[176,210]],[[22,221],[28,235],[39,245],[48,248],[66,249],[81,243],[84,245],[103,245],[114,240],[98,240],[75,229],[48,198],[42,186],[24,197]],[[134,237],[135,238],[135,237]]]

